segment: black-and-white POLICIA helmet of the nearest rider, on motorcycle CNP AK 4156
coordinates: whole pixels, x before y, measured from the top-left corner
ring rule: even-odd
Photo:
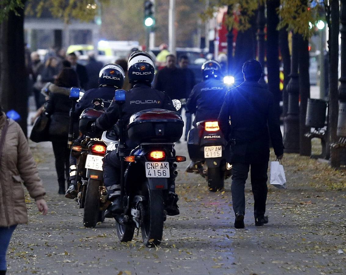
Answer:
[[[147,52],[135,51],[131,53],[127,62],[127,70],[130,83],[151,83],[154,79],[154,61]]]

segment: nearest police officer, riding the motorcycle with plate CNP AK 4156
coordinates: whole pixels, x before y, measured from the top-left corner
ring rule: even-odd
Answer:
[[[144,51],[135,51],[129,56],[128,60],[128,77],[132,83],[133,89],[126,92],[126,101],[122,105],[122,119],[125,125],[129,123],[130,116],[146,109],[166,109],[175,111],[172,100],[164,92],[158,91],[151,87],[154,78],[155,68],[151,56]],[[112,103],[104,114],[102,114],[93,125],[95,131],[111,130],[118,122],[119,106]],[[135,148],[137,144],[131,144],[128,139],[127,132],[126,147]],[[103,159],[104,184],[108,192],[108,200],[111,204],[105,212],[106,218],[113,218],[123,211],[123,205],[120,198],[120,158],[118,148],[110,151]],[[179,209],[176,204],[178,198],[175,194],[174,179],[170,183],[170,192],[167,201],[165,202],[165,210],[168,215],[179,214]]]

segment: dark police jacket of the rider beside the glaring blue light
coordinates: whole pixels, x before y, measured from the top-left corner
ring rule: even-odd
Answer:
[[[186,103],[190,113],[195,113],[195,122],[217,119],[224,103],[227,86],[217,79],[208,79],[195,85]]]

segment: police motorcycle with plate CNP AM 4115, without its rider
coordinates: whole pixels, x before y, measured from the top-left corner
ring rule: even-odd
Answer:
[[[227,142],[217,121],[200,121],[189,131],[188,151],[194,166],[187,172],[199,173],[208,181],[211,192],[224,188],[232,166],[226,161]]]

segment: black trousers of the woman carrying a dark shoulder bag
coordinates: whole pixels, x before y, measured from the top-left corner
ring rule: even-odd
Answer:
[[[65,179],[69,178],[70,149],[67,148],[67,140],[52,141],[52,145],[58,183],[65,188]]]

